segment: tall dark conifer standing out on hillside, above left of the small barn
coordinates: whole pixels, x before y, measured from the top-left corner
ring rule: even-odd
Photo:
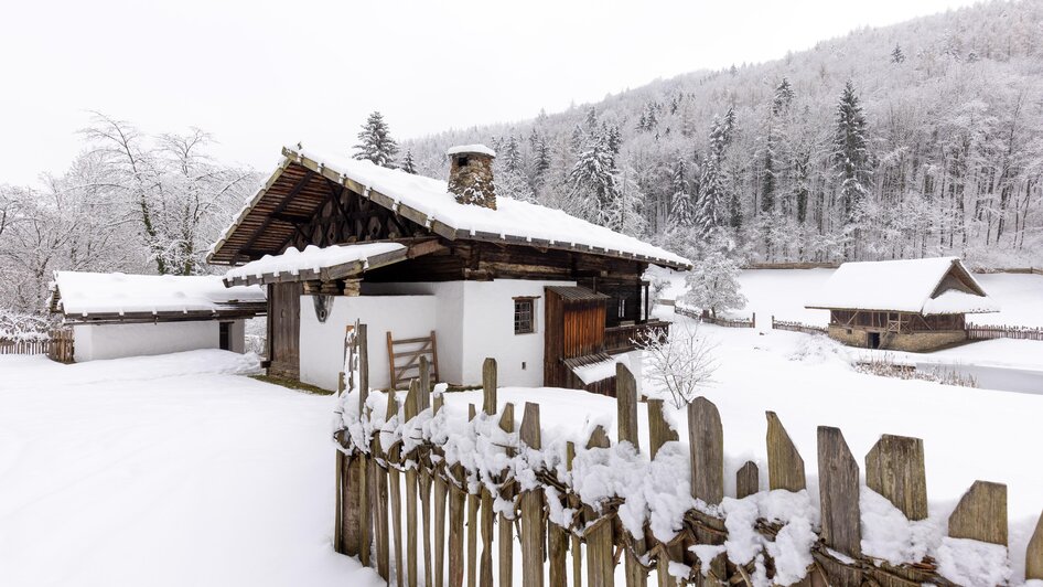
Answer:
[[[837,127],[834,134],[834,164],[840,177],[839,200],[845,225],[852,224],[865,196],[869,177],[869,151],[865,116],[849,79],[837,104]]]

